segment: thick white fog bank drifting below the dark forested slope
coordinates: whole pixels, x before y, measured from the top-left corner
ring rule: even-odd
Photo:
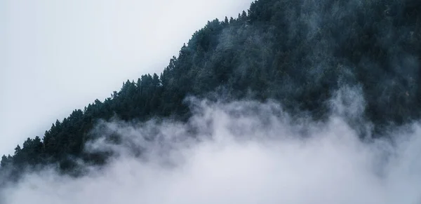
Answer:
[[[86,151],[112,151],[109,165],[77,179],[26,175],[3,203],[421,202],[420,124],[360,140],[347,123],[361,118],[358,88],[339,91],[324,122],[290,118],[276,102],[187,101],[187,123],[98,123]],[[121,142],[107,142],[115,134]]]

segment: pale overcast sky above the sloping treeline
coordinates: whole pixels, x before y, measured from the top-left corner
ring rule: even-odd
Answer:
[[[0,154],[123,81],[160,73],[194,31],[250,2],[0,1]]]

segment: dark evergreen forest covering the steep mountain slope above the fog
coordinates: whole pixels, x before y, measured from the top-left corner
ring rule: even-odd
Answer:
[[[344,85],[361,86],[364,117],[382,132],[420,118],[421,1],[259,0],[236,18],[209,21],[161,74],[126,81],[27,138],[0,172],[58,164],[77,172],[74,158],[100,165],[103,154],[83,151],[99,119],[189,118],[189,95],[225,100],[276,100],[290,114],[314,120]],[[379,134],[380,135],[380,134]],[[9,137],[12,137],[10,135]]]

